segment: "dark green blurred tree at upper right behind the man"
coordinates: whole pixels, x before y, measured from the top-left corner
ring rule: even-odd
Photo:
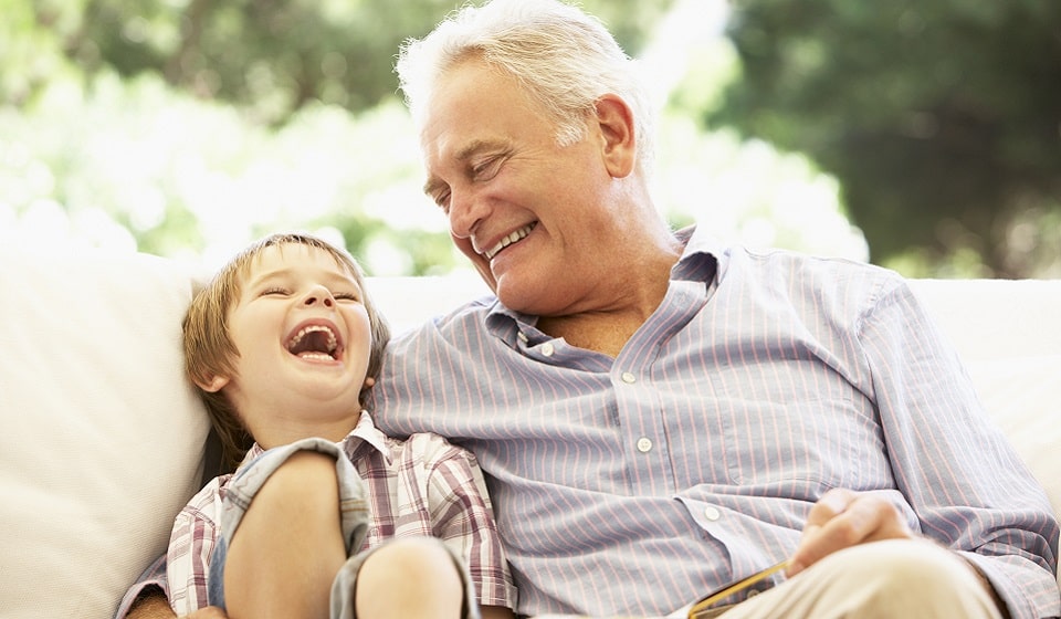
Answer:
[[[708,126],[834,175],[872,261],[1061,273],[1061,2],[731,2]]]

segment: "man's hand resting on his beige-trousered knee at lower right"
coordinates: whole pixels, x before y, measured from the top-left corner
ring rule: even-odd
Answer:
[[[822,557],[850,546],[915,537],[899,510],[881,496],[833,489],[811,507],[787,575],[795,576]]]

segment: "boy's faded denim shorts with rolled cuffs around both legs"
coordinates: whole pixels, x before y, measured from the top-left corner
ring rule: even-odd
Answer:
[[[224,564],[228,558],[229,541],[235,534],[243,514],[246,513],[251,500],[265,484],[269,478],[288,458],[300,451],[317,451],[335,458],[335,470],[339,485],[339,525],[343,529],[343,539],[346,544],[346,555],[349,559],[339,569],[332,584],[332,619],[355,619],[354,591],[357,584],[357,573],[365,559],[375,548],[359,552],[368,532],[369,505],[372,503],[365,493],[357,470],[343,450],[325,439],[302,439],[290,444],[265,451],[242,469],[229,481],[221,508],[221,524],[218,543],[210,557],[210,571],[207,578],[207,590],[210,606],[224,608]],[[468,568],[459,553],[432,538],[453,557],[454,566],[460,570],[464,583],[465,619],[479,618],[479,605],[475,602],[471,578]]]

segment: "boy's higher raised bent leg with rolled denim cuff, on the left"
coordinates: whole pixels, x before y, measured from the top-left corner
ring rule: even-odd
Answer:
[[[335,443],[269,450],[225,486],[210,604],[233,619],[326,618],[335,574],[367,529],[363,481]]]

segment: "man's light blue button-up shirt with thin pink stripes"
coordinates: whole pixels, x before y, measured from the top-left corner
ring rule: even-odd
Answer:
[[[389,348],[378,423],[477,455],[521,613],[670,612],[786,558],[833,487],[968,550],[1015,617],[1061,612],[1046,495],[900,276],[680,237],[614,359],[493,297]]]

